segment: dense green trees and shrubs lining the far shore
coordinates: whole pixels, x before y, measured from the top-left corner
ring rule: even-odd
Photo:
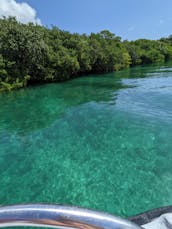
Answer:
[[[79,35],[0,19],[0,91],[170,59],[171,36],[129,42],[107,30]]]

